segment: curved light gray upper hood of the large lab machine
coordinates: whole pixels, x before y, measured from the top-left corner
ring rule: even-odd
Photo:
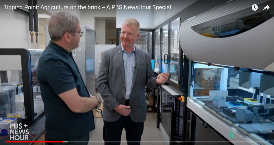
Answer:
[[[253,4],[258,5],[257,11],[251,9]],[[267,5],[269,9],[264,9]],[[180,26],[182,51],[193,61],[274,71],[274,17],[230,37],[197,33],[201,28],[221,27],[251,15],[273,15],[273,9],[273,0],[232,0],[188,19]]]

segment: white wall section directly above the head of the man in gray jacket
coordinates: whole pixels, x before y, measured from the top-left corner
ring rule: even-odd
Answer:
[[[129,6],[152,6],[153,1],[132,1],[132,0],[116,0],[116,5],[122,5],[122,9],[116,10],[116,28],[121,28],[123,22],[128,18],[135,18],[140,23],[140,28],[154,28],[153,9],[124,9],[124,5]]]

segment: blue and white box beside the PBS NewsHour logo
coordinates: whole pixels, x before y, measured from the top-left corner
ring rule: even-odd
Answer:
[[[9,135],[9,124],[17,123],[17,118],[0,118],[0,135],[6,136]],[[11,127],[11,130],[14,130],[14,126]]]

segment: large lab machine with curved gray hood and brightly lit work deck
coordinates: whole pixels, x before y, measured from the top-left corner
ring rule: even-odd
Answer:
[[[273,16],[274,0],[233,0],[181,23],[190,60],[185,141],[203,141],[193,133],[199,118],[222,138],[211,143],[274,144]]]

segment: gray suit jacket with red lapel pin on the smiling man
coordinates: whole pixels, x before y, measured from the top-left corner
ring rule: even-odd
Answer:
[[[136,47],[134,69],[129,116],[134,122],[144,122],[147,115],[145,86],[160,89],[161,85],[156,84],[151,55]],[[97,77],[97,89],[104,100],[103,119],[108,122],[117,121],[121,115],[114,108],[119,104],[125,104],[125,68],[121,44],[103,52]]]

